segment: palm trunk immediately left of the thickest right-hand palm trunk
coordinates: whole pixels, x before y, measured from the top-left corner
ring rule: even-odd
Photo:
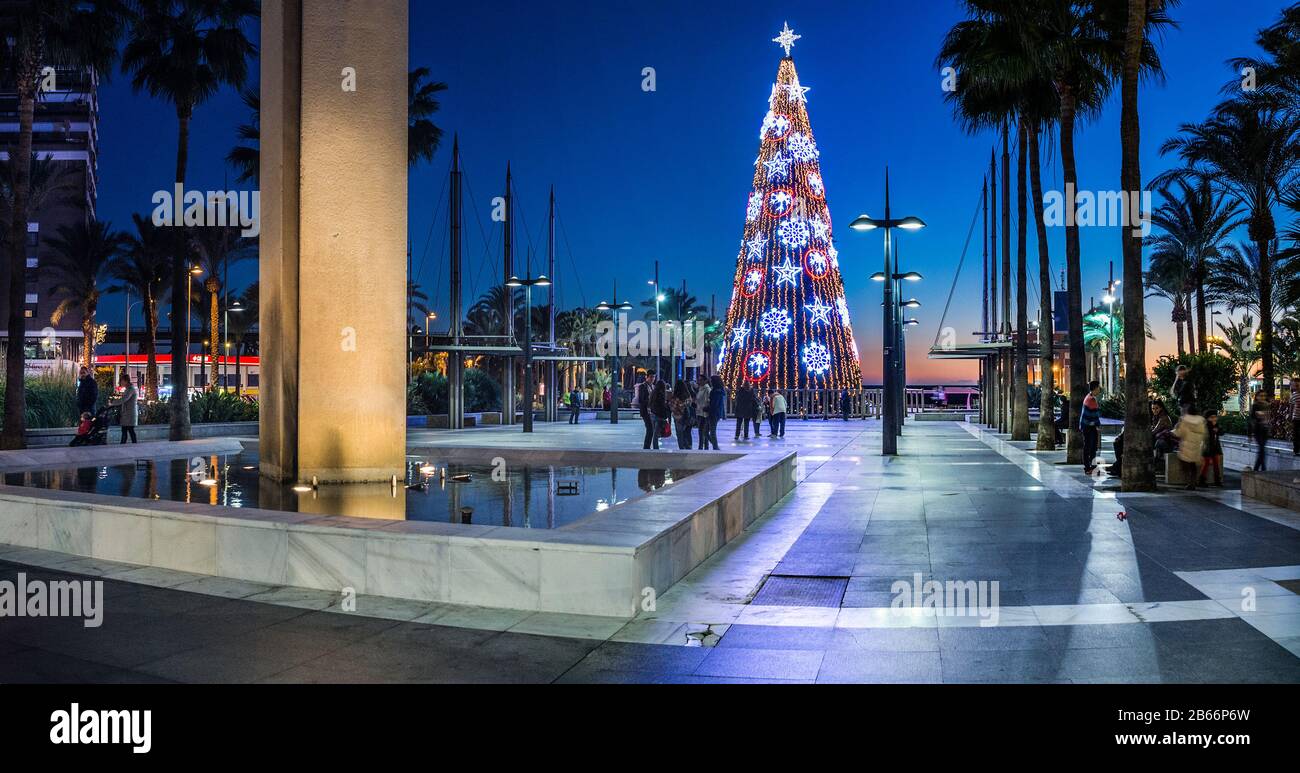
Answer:
[[[1066,461],[1083,464],[1083,435],[1079,416],[1083,413],[1083,395],[1087,388],[1087,362],[1083,348],[1083,278],[1079,268],[1079,223],[1075,214],[1075,194],[1079,173],[1074,164],[1075,96],[1067,84],[1061,84],[1061,177],[1065,182],[1065,268],[1070,317],[1070,431],[1066,435]],[[1139,283],[1140,286],[1140,283]]]

